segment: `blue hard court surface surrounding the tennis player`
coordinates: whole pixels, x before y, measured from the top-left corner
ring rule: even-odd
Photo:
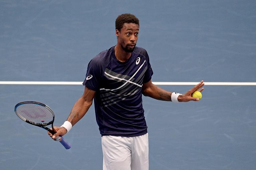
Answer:
[[[256,2],[0,1],[0,81],[78,81],[116,44],[122,13],[140,20],[153,82],[256,82]],[[160,85],[185,93],[193,85]],[[61,125],[83,85],[0,85],[1,170],[100,170],[94,106],[65,135],[72,148],[21,121],[18,102],[47,104]],[[256,86],[205,85],[199,102],[143,97],[150,170],[255,170]]]

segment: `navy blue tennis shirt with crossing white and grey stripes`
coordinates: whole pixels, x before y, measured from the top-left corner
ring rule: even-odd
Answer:
[[[83,85],[96,91],[95,114],[102,136],[132,137],[147,133],[142,85],[152,75],[148,53],[140,47],[135,47],[125,62],[116,59],[114,47],[89,62]]]

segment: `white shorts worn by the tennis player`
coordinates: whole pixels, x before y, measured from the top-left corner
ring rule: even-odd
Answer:
[[[135,137],[102,136],[103,170],[148,170],[148,133]]]

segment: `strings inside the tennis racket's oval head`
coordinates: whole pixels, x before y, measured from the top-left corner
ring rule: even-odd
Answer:
[[[19,116],[34,123],[42,124],[53,120],[52,112],[47,107],[38,104],[21,104],[16,108],[16,112]]]

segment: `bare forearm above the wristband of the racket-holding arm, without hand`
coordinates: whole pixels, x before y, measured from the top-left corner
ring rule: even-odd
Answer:
[[[86,101],[85,98],[80,97],[74,104],[67,121],[69,121],[72,126],[78,122],[88,111],[92,104],[92,101]]]

